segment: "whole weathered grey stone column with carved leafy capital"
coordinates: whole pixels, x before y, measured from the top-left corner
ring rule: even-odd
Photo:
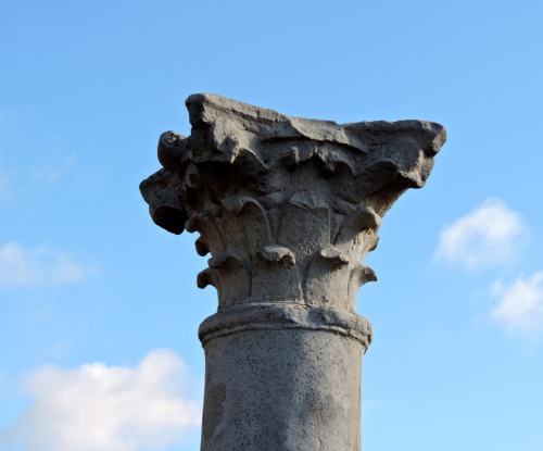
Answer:
[[[198,231],[202,451],[359,451],[369,322],[361,263],[392,203],[420,188],[445,140],[420,121],[338,125],[219,96],[188,98],[191,135],[161,136],[141,184],[153,221]]]

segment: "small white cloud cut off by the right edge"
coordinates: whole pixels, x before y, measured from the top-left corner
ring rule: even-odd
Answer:
[[[518,278],[508,287],[494,286],[500,297],[491,317],[502,323],[509,331],[534,335],[543,331],[543,272],[530,278]]]

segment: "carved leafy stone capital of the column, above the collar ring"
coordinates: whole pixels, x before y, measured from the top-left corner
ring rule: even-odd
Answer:
[[[141,184],[156,224],[199,231],[211,253],[198,277],[219,310],[298,302],[355,311],[376,280],[361,263],[381,218],[420,188],[445,140],[422,121],[333,122],[289,117],[219,96],[188,98],[191,135],[162,135],[164,168]]]

